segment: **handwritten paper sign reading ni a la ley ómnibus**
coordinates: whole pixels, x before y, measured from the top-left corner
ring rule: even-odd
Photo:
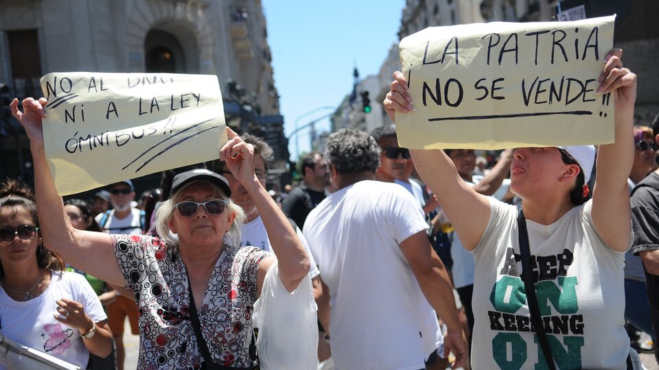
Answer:
[[[214,75],[49,73],[41,89],[60,195],[213,160],[227,141]]]

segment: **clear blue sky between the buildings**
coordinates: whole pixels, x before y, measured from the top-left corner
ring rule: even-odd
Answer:
[[[356,67],[360,78],[374,75],[398,43],[404,0],[263,0],[268,44],[273,55],[279,112],[289,139],[290,159],[310,151],[310,131],[290,134],[329,114],[351,93]],[[385,6],[386,5],[386,6]],[[329,108],[322,108],[330,106]],[[314,111],[307,114],[308,112]],[[329,119],[316,125],[329,131]]]

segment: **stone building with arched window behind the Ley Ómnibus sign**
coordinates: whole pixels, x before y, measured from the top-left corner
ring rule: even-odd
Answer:
[[[50,72],[217,75],[227,125],[267,138],[283,167],[288,142],[270,61],[260,0],[0,0],[2,98],[42,96],[39,78]],[[27,139],[7,114],[0,178],[29,180]]]

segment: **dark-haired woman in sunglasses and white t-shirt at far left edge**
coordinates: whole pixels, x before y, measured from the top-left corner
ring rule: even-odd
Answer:
[[[44,245],[34,194],[16,180],[0,188],[0,330],[8,338],[86,369],[106,358],[112,335],[84,277]],[[5,369],[0,354],[0,369]]]

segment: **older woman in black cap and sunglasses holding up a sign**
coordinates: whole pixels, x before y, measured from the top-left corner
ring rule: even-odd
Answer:
[[[43,98],[24,99],[23,112],[18,99],[10,104],[30,138],[36,201],[46,217],[43,237],[73,267],[135,293],[141,343],[137,368],[251,369],[253,304],[266,272],[277,261],[279,280],[292,292],[310,268],[288,219],[255,174],[252,145],[227,127],[220,160],[256,204],[274,256],[240,247],[244,212],[231,201],[227,180],[206,169],[174,177],[171,196],[156,214],[163,239],[84,232],[71,226],[50,175],[41,129],[45,104]],[[172,321],[177,317],[186,319]]]

